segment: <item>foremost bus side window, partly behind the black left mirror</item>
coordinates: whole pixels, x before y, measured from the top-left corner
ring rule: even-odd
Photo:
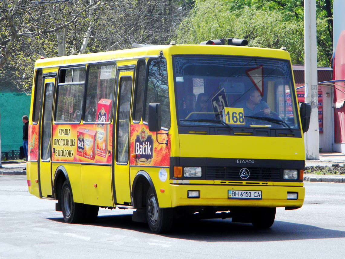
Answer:
[[[146,87],[144,121],[148,121],[148,105],[159,102],[162,111],[162,128],[170,128],[170,102],[168,91],[167,61],[151,59],[148,62],[149,71]]]

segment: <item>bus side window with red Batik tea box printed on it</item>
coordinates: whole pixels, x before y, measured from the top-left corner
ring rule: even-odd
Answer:
[[[114,100],[116,84],[116,62],[108,62],[101,64],[90,64],[88,66],[88,76],[86,83],[86,105],[83,121],[96,122],[99,121],[96,113],[100,111],[102,103],[108,104],[106,121],[111,121],[112,107]]]

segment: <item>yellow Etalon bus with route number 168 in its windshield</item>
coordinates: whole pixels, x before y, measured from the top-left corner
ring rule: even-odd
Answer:
[[[286,50],[246,44],[37,60],[30,193],[57,200],[68,223],[131,208],[156,233],[188,216],[268,228],[276,207],[300,208],[310,106],[297,102]]]

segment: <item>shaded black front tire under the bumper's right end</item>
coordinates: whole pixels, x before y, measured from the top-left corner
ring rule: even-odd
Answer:
[[[276,217],[276,208],[254,208],[250,221],[255,228],[266,229],[273,225]]]

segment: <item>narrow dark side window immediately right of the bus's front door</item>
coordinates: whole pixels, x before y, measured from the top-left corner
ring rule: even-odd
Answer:
[[[142,103],[144,101],[144,88],[146,78],[145,59],[139,59],[137,64],[134,102],[133,102],[133,122],[140,122],[142,114]]]

